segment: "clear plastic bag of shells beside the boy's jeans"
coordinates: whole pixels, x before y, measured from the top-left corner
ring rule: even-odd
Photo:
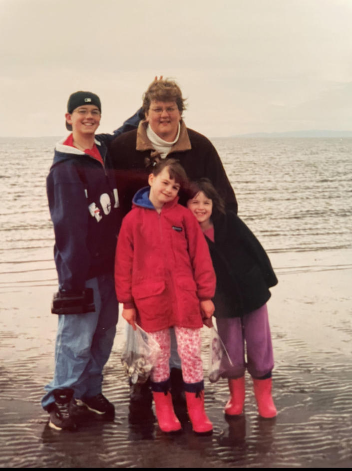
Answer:
[[[150,376],[160,352],[160,346],[147,332],[137,324],[133,330],[127,324],[127,337],[122,349],[121,363],[131,384],[143,384]]]

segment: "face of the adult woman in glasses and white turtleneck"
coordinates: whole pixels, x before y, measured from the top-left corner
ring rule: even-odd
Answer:
[[[152,100],[146,113],[149,126],[161,139],[167,142],[175,140],[181,113],[175,101]]]

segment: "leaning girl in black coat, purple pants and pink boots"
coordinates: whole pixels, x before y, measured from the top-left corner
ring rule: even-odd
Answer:
[[[234,416],[243,411],[247,367],[259,415],[275,417],[271,395],[274,358],[266,303],[277,277],[256,236],[234,213],[225,213],[210,180],[193,182],[190,195],[187,207],[204,232],[217,277],[213,301],[219,335],[233,363],[225,374],[231,394],[225,414]]]

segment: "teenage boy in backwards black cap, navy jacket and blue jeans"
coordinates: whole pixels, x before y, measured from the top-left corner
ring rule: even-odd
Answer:
[[[59,290],[52,304],[58,314],[54,377],[41,404],[57,430],[75,429],[88,411],[114,419],[102,394],[102,370],[118,319],[113,265],[120,215],[105,142],[140,119],[136,113],[114,135],[95,135],[101,103],[86,91],[70,95],[65,118],[72,133],[56,145],[46,181]]]

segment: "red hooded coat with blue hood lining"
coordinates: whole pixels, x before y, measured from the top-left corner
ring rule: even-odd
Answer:
[[[200,300],[211,299],[216,278],[209,249],[193,214],[177,204],[159,214],[142,188],[119,232],[115,258],[117,299],[136,307],[147,332],[174,325],[203,326]]]

